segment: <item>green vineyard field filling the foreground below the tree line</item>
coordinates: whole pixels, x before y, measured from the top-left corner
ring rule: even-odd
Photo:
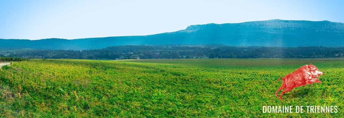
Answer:
[[[325,75],[275,96],[312,63]],[[343,117],[344,60],[31,60],[0,71],[1,117]],[[262,106],[338,106],[262,113]]]

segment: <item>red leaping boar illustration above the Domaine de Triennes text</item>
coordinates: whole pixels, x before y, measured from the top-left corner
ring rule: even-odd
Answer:
[[[319,71],[317,67],[313,64],[301,66],[296,71],[286,75],[285,77],[279,77],[277,82],[280,78],[282,78],[282,86],[277,90],[276,97],[278,97],[278,92],[285,88],[280,95],[280,99],[282,95],[286,92],[290,92],[293,88],[299,86],[305,86],[306,84],[312,83],[321,83],[319,80],[319,75],[323,75],[323,72]]]

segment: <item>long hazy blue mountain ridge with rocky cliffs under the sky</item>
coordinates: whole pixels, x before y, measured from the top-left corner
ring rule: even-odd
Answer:
[[[185,30],[145,36],[87,39],[0,39],[0,49],[89,50],[115,45],[324,46],[344,47],[344,23],[330,21],[267,20],[191,25]]]

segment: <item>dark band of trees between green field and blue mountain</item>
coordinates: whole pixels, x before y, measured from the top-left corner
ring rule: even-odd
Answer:
[[[1,50],[0,56],[73,59],[334,58],[344,47],[233,47],[226,45],[125,45],[98,50]]]

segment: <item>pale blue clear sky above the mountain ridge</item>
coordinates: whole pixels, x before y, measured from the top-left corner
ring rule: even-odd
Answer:
[[[340,0],[0,0],[0,39],[149,35],[193,24],[344,22]]]

